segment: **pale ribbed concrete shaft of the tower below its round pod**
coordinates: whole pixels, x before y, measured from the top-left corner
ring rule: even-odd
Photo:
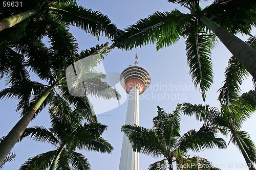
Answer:
[[[129,92],[129,101],[126,113],[126,125],[139,126],[139,95],[140,91],[134,87]],[[119,170],[139,170],[139,153],[134,152],[129,139],[124,134]]]

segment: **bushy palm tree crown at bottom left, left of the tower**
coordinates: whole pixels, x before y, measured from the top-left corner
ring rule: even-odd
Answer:
[[[49,113],[52,119],[49,129],[38,126],[27,128],[19,140],[30,137],[50,143],[56,149],[29,158],[20,170],[91,169],[88,159],[76,150],[112,153],[112,145],[101,137],[107,126],[97,122],[82,124],[84,113],[72,110],[68,102],[58,97],[51,102]]]

